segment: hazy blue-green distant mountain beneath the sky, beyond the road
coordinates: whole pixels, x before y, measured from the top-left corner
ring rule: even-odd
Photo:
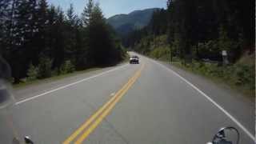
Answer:
[[[107,22],[114,27],[118,34],[125,36],[132,30],[142,29],[148,25],[155,10],[159,9],[135,10],[130,14],[117,14],[108,18]]]

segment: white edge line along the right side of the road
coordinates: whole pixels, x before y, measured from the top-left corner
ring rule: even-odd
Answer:
[[[183,78],[181,75],[179,75],[178,73],[176,73],[174,70],[171,70],[169,68],[167,68],[166,66],[163,66],[162,64],[160,64],[159,62],[156,62],[152,59],[150,59],[152,62],[158,64],[159,66],[164,67],[166,70],[169,70],[170,72],[172,72],[173,74],[177,75],[178,78],[181,78],[184,82],[186,82],[187,84],[189,84],[190,86],[192,86],[195,90],[198,90],[198,92],[200,94],[202,94],[204,97],[206,97],[210,102],[212,102],[214,104],[214,106],[217,106],[219,110],[222,110],[222,112],[224,114],[226,114],[226,116],[228,116],[234,123],[236,123],[254,142],[255,142],[255,138],[253,134],[250,134],[250,131],[246,129],[245,126],[242,126],[242,124],[240,122],[238,122],[238,120],[236,118],[234,118],[230,113],[228,113],[224,108],[222,108],[222,106],[219,106],[217,102],[214,102],[214,100],[212,98],[210,98],[208,95],[206,95],[204,92],[202,92],[202,90],[199,90],[198,87],[194,86],[191,82],[187,81],[185,78]]]

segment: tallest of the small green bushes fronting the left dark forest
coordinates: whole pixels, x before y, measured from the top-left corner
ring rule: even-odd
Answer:
[[[50,58],[42,57],[39,60],[38,78],[50,78],[53,61]]]

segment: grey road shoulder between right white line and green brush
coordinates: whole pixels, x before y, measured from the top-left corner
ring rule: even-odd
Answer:
[[[225,110],[230,112],[230,114],[237,118],[239,122],[242,122],[242,124],[244,124],[244,126],[246,126],[246,128],[250,130],[252,134],[255,134],[254,100],[245,97],[242,94],[238,94],[234,90],[231,90],[228,86],[216,84],[198,74],[193,74],[186,70],[182,70],[178,67],[170,65],[167,62],[159,63],[173,70],[190,83],[193,83],[193,85],[198,87],[199,90],[202,90],[205,94],[210,96],[214,102],[217,102]]]

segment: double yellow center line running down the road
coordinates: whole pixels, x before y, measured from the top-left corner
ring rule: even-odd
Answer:
[[[104,118],[108,114],[110,114],[110,111],[114,108],[114,106],[120,101],[120,99],[123,97],[124,94],[130,89],[131,86],[133,86],[134,82],[139,78],[140,74],[142,73],[142,69],[144,68],[144,64],[140,67],[140,69],[129,79],[129,81],[126,83],[126,85],[122,86],[122,89],[118,90],[116,94],[104,106],[102,106],[99,110],[96,111],[95,114],[93,114],[86,122],[82,124],[78,128],[78,130],[75,130],[73,134],[70,135],[69,138],[66,138],[66,140],[63,142],[63,144],[69,144],[74,141],[76,144],[82,143],[91,132],[93,132],[97,126],[102,122]]]

